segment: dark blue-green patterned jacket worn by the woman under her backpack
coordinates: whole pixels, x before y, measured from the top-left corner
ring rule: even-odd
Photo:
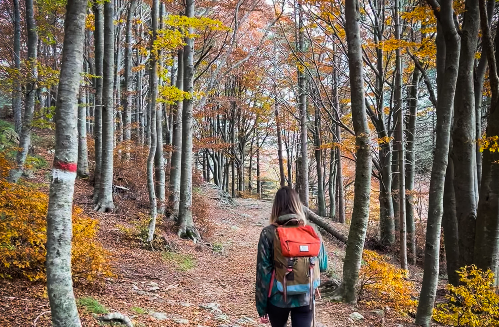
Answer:
[[[289,215],[286,215],[289,216]],[[277,223],[283,224],[285,221],[278,218]],[[289,219],[285,217],[284,219]],[[270,286],[270,278],[274,268],[274,230],[275,226],[269,225],[263,228],[258,241],[258,255],[256,259],[256,284],[255,284],[255,302],[256,311],[260,317],[263,317],[267,312],[267,301],[279,308],[296,308],[309,305],[309,294],[288,295],[287,301],[284,302],[284,296],[277,291],[277,283],[273,283],[271,297],[268,296],[268,288]],[[317,235],[320,234],[317,233]],[[319,252],[319,269],[321,272],[327,270],[327,253],[324,242],[321,242]]]

